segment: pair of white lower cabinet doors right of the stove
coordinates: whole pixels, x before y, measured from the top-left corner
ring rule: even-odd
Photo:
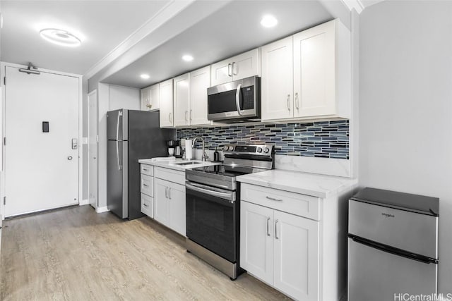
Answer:
[[[240,266],[297,300],[319,297],[319,221],[240,203]]]

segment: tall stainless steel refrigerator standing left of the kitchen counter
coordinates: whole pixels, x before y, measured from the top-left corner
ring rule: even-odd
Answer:
[[[121,219],[144,216],[138,159],[168,156],[167,140],[176,140],[159,122],[158,111],[107,112],[107,207]]]

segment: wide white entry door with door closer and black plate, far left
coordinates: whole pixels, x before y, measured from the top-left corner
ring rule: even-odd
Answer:
[[[79,79],[5,69],[5,215],[78,204]]]

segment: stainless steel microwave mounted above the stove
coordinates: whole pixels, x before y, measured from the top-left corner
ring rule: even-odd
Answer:
[[[261,78],[252,76],[207,89],[207,118],[234,123],[261,120]]]

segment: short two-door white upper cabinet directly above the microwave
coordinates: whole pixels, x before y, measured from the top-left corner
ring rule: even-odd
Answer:
[[[260,49],[253,49],[230,59],[214,63],[210,69],[211,85],[261,75]]]

